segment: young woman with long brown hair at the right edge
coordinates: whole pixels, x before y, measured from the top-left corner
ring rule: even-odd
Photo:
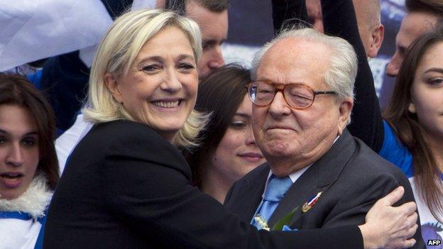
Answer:
[[[380,155],[414,190],[425,242],[443,237],[443,28],[412,43],[385,112]]]

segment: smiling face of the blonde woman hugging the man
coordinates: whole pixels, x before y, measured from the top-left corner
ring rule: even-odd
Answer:
[[[172,142],[195,106],[196,68],[187,35],[171,26],[143,45],[128,74],[106,73],[105,81],[136,121]]]

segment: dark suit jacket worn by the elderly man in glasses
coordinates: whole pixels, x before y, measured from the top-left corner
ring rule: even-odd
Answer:
[[[251,222],[261,203],[269,170],[270,166],[265,163],[239,179],[226,196],[226,209],[239,215],[243,221]],[[270,216],[268,225],[272,228],[297,206],[295,216],[287,224],[290,228],[332,228],[363,224],[371,206],[398,185],[405,187],[400,204],[415,201],[403,172],[345,129],[332,148],[292,184]],[[322,195],[317,203],[303,212],[303,204],[319,192]],[[423,248],[418,227],[414,248]]]

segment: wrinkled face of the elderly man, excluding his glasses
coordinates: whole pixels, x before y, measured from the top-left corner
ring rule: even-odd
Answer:
[[[324,82],[330,58],[330,49],[324,45],[286,38],[263,55],[256,80],[283,85],[301,83],[314,91],[331,91]],[[352,99],[345,102],[350,111]],[[294,109],[282,92],[277,92],[268,106],[253,105],[256,143],[275,175],[285,176],[300,170],[329,150],[346,126],[349,112],[342,113],[341,105],[337,95],[317,95],[312,106]]]

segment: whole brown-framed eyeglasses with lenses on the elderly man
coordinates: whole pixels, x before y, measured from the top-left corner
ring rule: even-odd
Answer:
[[[334,91],[314,91],[305,84],[275,84],[273,82],[256,81],[249,83],[248,97],[257,106],[268,106],[277,92],[282,92],[286,103],[295,109],[307,109],[314,103],[319,94],[337,94]]]

